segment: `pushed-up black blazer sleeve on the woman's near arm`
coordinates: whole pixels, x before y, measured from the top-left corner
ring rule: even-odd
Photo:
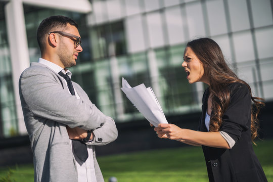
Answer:
[[[250,127],[251,96],[245,84],[235,84],[231,92],[230,105],[222,117],[220,130],[228,133],[237,142],[243,130]]]

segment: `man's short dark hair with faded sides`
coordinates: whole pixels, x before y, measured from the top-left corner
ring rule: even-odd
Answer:
[[[44,50],[47,41],[45,36],[52,31],[65,31],[67,29],[67,24],[78,28],[78,24],[74,20],[65,16],[51,16],[42,20],[37,29],[37,41],[41,52]]]

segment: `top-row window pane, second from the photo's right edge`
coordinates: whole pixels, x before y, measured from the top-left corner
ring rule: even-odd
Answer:
[[[250,28],[247,4],[245,0],[229,0],[229,11],[231,17],[232,31]]]

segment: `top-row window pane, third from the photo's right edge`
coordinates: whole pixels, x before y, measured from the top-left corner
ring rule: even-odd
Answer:
[[[210,35],[227,33],[226,19],[222,0],[207,1]]]

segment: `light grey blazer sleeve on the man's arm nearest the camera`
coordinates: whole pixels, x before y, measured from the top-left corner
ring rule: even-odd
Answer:
[[[107,116],[94,104],[70,95],[59,77],[48,68],[29,67],[21,74],[19,89],[22,107],[29,111],[25,113],[31,113],[31,117],[83,129],[96,129],[106,122]]]

